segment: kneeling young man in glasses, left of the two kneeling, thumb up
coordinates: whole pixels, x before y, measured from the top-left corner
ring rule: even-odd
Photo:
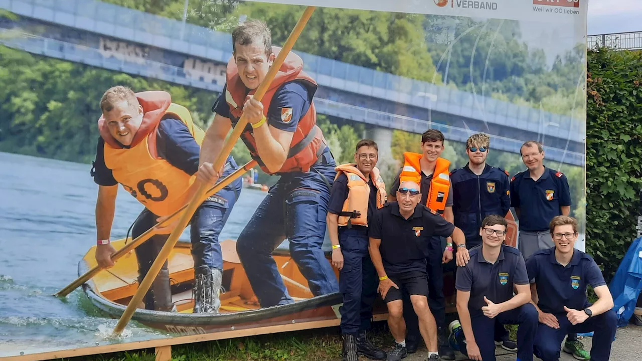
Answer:
[[[524,258],[503,245],[508,224],[502,216],[482,221],[482,244],[471,249],[471,260],[457,269],[457,312],[471,360],[495,361],[494,324],[518,324],[517,360],[533,360],[537,311],[530,304]],[[514,288],[517,295],[513,295]]]

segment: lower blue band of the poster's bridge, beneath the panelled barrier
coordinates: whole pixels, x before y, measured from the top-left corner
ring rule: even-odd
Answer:
[[[122,71],[133,75],[157,78],[168,82],[189,85],[216,92],[221,92],[223,88],[221,84],[213,84],[212,82],[189,78],[186,76],[184,69],[180,67],[169,66],[167,64],[152,62],[150,60],[128,62],[124,59],[117,59],[116,57],[105,57],[100,53],[100,51],[98,51],[98,49],[62,42],[60,40],[37,37],[31,34],[7,31],[0,28],[0,42],[3,42],[12,48],[19,48],[30,53],[80,62],[91,66]],[[441,130],[446,139],[462,143],[476,132],[435,122],[429,123],[422,119],[400,116],[398,114],[381,112],[364,107],[356,107],[354,105],[323,98],[315,98],[315,104],[317,105],[318,112],[322,114],[350,119],[353,121],[360,121],[362,123],[376,125],[377,127],[399,129],[417,134],[422,134],[428,128],[435,128]],[[522,144],[521,141],[494,135],[490,135],[490,138],[494,149],[519,153],[519,148]],[[547,147],[546,155],[549,159],[563,163],[580,166],[584,164],[584,154],[577,152],[569,152],[558,148]]]

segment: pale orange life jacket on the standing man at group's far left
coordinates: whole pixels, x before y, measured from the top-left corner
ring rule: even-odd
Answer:
[[[352,224],[367,226],[370,185],[365,176],[356,168],[354,163],[341,164],[336,166],[334,170],[336,170],[334,180],[343,173],[348,177],[348,197],[343,202],[338,224],[347,225],[348,227],[351,227]],[[370,179],[374,181],[374,185],[377,187],[377,209],[379,209],[386,202],[386,185],[383,183],[377,167],[372,168]]]

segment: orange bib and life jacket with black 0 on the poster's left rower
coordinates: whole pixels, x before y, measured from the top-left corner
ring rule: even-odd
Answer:
[[[188,175],[158,157],[156,134],[160,120],[166,114],[180,119],[198,145],[203,142],[205,132],[193,123],[189,110],[171,103],[167,92],[139,92],[136,97],[143,105],[144,115],[129,148],[112,137],[103,116],[98,119],[100,135],[105,140],[105,165],[112,170],[114,179],[152,213],[170,215],[189,201],[187,189],[196,175]]]

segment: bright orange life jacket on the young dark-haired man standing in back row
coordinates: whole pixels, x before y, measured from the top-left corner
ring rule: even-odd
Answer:
[[[405,152],[403,154],[404,165],[399,175],[399,184],[406,180],[412,180],[421,186],[421,154]],[[444,213],[446,200],[450,192],[449,170],[450,161],[444,158],[437,158],[435,172],[430,182],[430,191],[426,198],[426,207],[436,211],[439,214]]]

